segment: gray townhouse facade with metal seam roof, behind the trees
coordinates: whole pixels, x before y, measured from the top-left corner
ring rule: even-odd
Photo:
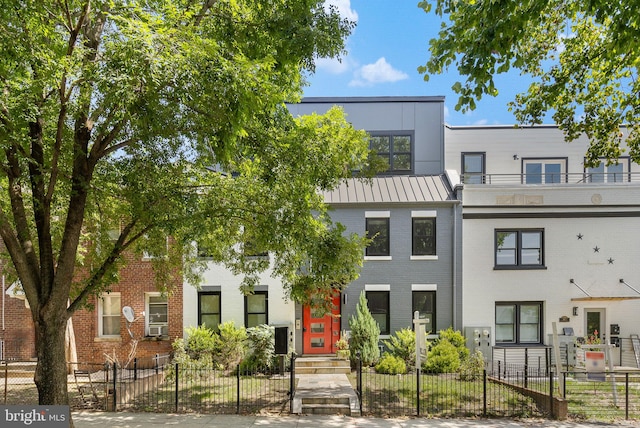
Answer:
[[[434,333],[461,328],[461,215],[444,170],[444,98],[306,98],[289,109],[295,116],[323,113],[333,105],[343,108],[355,128],[372,136],[411,136],[409,168],[403,164],[402,170],[381,174],[371,183],[350,180],[324,195],[332,219],[345,225],[347,233],[365,234],[370,219],[388,227],[388,254],[365,254],[360,278],[342,296],[341,328],[349,330],[362,290],[383,303],[387,299],[386,308],[374,313],[381,319],[387,311],[387,334],[411,328],[416,299],[425,296],[434,303]],[[399,153],[398,158],[406,155]],[[418,254],[413,243],[421,222],[433,227],[429,239],[435,244],[428,255]]]

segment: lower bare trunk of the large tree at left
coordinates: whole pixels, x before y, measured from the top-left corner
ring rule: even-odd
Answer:
[[[38,388],[38,402],[41,405],[68,405],[65,358],[67,320],[63,316],[47,316],[46,313],[43,315],[45,316],[40,316],[35,326],[38,356],[35,382]]]

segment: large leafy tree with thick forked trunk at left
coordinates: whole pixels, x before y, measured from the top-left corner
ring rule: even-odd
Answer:
[[[339,110],[285,107],[352,28],[314,0],[3,2],[0,236],[41,404],[68,403],[65,325],[118,281],[124,252],[155,256],[166,288],[196,281],[195,241],[250,292],[266,266],[244,249],[269,251],[302,303],[357,276],[363,240],[319,191],[367,170],[366,135]]]

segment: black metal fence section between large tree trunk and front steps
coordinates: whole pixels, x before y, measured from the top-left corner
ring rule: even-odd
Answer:
[[[240,364],[225,371],[177,364],[163,356],[151,362],[136,359],[129,367],[108,363],[91,374],[91,385],[85,382],[78,388],[80,393],[90,386],[97,393],[97,405],[90,394],[79,394],[76,406],[108,411],[286,413],[294,385],[289,367],[255,371]]]

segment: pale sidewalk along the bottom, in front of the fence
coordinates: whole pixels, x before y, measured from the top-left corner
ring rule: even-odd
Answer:
[[[637,422],[622,422],[607,425],[603,423],[575,423],[541,419],[427,419],[427,418],[366,418],[335,415],[308,416],[239,416],[239,415],[203,415],[203,414],[165,414],[165,413],[73,413],[75,428],[152,428],[157,426],[179,426],[180,428],[248,428],[248,427],[285,427],[285,428],[597,428],[603,426],[633,427]]]

